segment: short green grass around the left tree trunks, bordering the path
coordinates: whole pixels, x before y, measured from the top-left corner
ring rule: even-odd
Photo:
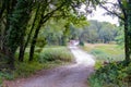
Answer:
[[[61,65],[61,61],[56,62],[55,61],[48,61],[48,62],[43,62],[39,63],[38,57],[39,57],[39,50],[41,50],[40,48],[36,48],[36,52],[34,54],[34,61],[28,62],[28,49],[26,49],[25,55],[24,55],[24,62],[15,62],[15,70],[13,71],[13,76],[14,78],[17,77],[28,77],[32,74],[34,74],[36,71],[40,71],[40,70],[47,70],[47,69],[51,69],[58,65]]]

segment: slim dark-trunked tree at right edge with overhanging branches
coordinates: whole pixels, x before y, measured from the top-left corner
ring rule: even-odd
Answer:
[[[126,60],[131,60],[131,0],[96,0],[107,11],[107,14],[119,17],[124,25],[124,52]]]

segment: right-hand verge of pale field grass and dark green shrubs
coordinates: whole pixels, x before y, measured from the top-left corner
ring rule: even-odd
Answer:
[[[123,49],[105,44],[87,44],[83,49],[96,58],[96,72],[88,78],[90,87],[131,87],[131,64],[123,61]]]

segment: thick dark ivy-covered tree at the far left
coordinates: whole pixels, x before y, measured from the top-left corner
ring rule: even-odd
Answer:
[[[0,45],[2,52],[5,54],[4,59],[8,60],[11,69],[14,67],[14,54],[26,30],[31,2],[31,0],[4,0],[2,4],[4,11],[1,11],[1,16],[5,23]]]

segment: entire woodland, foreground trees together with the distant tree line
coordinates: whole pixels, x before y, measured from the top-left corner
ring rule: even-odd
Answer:
[[[84,12],[82,5],[85,5]],[[96,7],[106,10],[105,15],[118,17],[119,26],[88,21],[86,16]],[[17,61],[19,64],[25,60],[27,64],[36,61],[45,46],[68,46],[72,39],[79,40],[81,46],[118,44],[124,48],[128,66],[131,62],[131,0],[0,0],[0,72],[14,71]]]

